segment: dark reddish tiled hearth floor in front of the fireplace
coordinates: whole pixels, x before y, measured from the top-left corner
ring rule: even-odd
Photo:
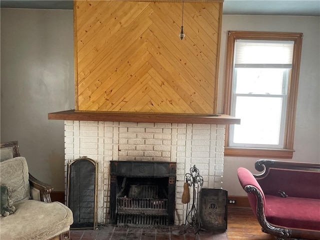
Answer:
[[[199,232],[174,225],[164,228],[117,227],[108,224],[98,229],[70,229],[71,240],[228,240],[225,232]]]

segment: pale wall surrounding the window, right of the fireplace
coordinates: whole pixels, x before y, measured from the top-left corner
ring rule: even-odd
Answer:
[[[296,107],[293,158],[290,161],[320,163],[320,17],[223,15],[218,88],[218,110],[223,110],[227,31],[302,32],[302,55]],[[229,195],[246,195],[238,183],[240,166],[257,172],[259,158],[224,157],[223,188]],[[285,159],[283,159],[285,160]]]

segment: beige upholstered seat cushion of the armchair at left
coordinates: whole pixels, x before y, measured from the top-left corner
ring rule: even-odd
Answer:
[[[50,239],[68,230],[73,221],[71,210],[57,201],[29,199],[17,202],[15,207],[14,214],[1,218],[1,240]]]

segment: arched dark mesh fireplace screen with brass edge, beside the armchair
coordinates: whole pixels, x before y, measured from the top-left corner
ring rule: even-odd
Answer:
[[[71,228],[96,227],[97,163],[81,157],[68,164],[67,206],[72,210]]]

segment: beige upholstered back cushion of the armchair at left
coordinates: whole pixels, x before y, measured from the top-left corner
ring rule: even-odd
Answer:
[[[1,184],[11,189],[13,203],[30,198],[29,173],[26,160],[22,156],[0,162]]]

